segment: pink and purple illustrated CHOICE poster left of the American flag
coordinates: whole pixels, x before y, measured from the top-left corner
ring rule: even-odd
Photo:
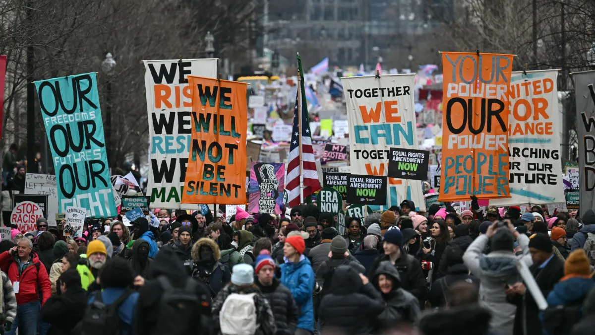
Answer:
[[[280,214],[285,190],[285,164],[252,163],[249,213]]]

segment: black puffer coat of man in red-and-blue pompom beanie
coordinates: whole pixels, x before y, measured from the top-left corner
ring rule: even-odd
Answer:
[[[296,331],[297,317],[299,310],[295,300],[293,300],[292,291],[281,284],[277,278],[273,277],[273,285],[263,286],[258,278],[254,283],[261,290],[262,295],[271,305],[271,310],[275,317],[277,332],[275,335],[293,335]]]

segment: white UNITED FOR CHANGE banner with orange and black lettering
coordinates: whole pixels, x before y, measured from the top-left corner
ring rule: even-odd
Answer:
[[[558,70],[512,73],[508,117],[511,197],[490,204],[503,207],[565,201],[557,80]]]

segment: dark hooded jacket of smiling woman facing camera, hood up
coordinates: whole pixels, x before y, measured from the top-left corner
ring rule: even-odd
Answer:
[[[379,330],[388,330],[399,321],[409,324],[417,322],[421,317],[421,309],[417,298],[400,287],[399,271],[388,261],[381,262],[372,277],[374,287],[378,287],[378,276],[387,275],[393,280],[393,289],[388,294],[381,293],[384,300],[384,311],[376,317],[375,325]]]

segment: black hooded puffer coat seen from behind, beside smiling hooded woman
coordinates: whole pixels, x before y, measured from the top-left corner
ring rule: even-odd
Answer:
[[[318,308],[321,333],[337,330],[345,335],[369,334],[370,321],[384,310],[380,293],[371,283],[364,285],[358,272],[347,265],[335,269],[332,283]]]

